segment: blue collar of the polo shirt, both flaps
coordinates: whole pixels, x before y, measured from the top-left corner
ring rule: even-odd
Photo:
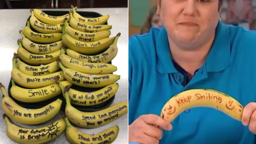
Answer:
[[[219,22],[215,40],[205,61],[208,72],[223,71],[230,63],[230,37],[226,24]],[[171,51],[165,27],[156,35],[156,68],[159,73],[178,73],[171,60]]]

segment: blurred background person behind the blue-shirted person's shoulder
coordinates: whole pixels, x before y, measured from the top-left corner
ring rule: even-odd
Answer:
[[[160,17],[156,14],[156,7],[152,7],[148,12],[146,21],[141,27],[140,34],[148,33],[151,27],[161,27]]]

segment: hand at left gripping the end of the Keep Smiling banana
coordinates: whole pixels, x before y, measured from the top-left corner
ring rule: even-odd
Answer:
[[[162,130],[171,130],[173,126],[158,115],[141,115],[129,125],[129,143],[158,144]]]

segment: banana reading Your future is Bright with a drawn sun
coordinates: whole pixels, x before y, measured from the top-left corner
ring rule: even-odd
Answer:
[[[63,118],[56,120],[56,122],[49,126],[37,129],[20,128],[12,124],[6,114],[3,114],[3,118],[7,123],[7,136],[12,141],[20,144],[49,143],[66,129],[65,120]]]

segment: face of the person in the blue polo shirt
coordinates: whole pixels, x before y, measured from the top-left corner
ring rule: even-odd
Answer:
[[[181,43],[191,43],[213,36],[219,21],[219,0],[160,0],[159,2],[158,13],[171,39]]]

